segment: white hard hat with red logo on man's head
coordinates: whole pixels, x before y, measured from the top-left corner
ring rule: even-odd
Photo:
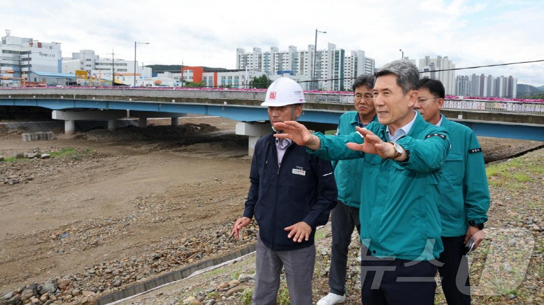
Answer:
[[[267,97],[261,106],[281,107],[305,103],[302,87],[288,77],[280,77],[267,90]]]

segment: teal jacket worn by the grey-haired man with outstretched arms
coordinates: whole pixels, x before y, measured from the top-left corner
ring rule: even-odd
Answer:
[[[372,122],[366,128],[389,141],[385,125]],[[410,152],[410,158],[403,162],[350,150],[348,142],[363,142],[358,133],[316,135],[321,147],[308,152],[329,160],[364,159],[359,219],[361,241],[372,255],[407,260],[438,258],[443,251],[438,182],[449,150],[447,130],[416,114],[410,132],[397,141]]]

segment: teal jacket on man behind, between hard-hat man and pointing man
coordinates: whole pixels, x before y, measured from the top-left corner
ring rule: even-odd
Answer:
[[[336,135],[347,135],[355,132],[357,116],[357,111],[348,111],[341,115]],[[374,116],[373,121],[378,121],[378,117]],[[362,158],[332,161],[332,167],[335,170],[336,187],[338,188],[338,201],[357,209],[361,204],[363,162],[364,159]]]

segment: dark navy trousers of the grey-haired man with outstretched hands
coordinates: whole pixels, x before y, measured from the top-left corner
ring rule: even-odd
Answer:
[[[434,304],[437,266],[426,260],[379,259],[364,247],[362,251],[367,252],[361,260],[364,305]]]

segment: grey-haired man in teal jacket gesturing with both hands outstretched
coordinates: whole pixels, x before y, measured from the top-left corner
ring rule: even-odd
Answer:
[[[443,250],[438,182],[449,133],[413,109],[419,72],[410,61],[395,60],[374,75],[379,122],[328,136],[287,121],[274,125],[283,130],[275,136],[306,145],[321,158],[364,159],[362,303],[433,304],[437,267],[431,261]]]

